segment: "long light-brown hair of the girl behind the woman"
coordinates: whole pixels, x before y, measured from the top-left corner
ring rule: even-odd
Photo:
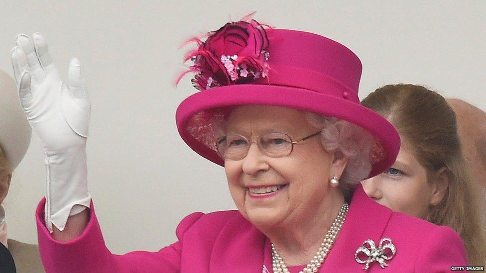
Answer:
[[[427,220],[453,228],[462,238],[470,265],[486,262],[485,232],[480,225],[477,183],[469,175],[458,136],[456,114],[445,98],[418,85],[387,85],[362,102],[388,119],[414,148],[414,156],[431,182],[445,168],[449,188],[429,208]]]

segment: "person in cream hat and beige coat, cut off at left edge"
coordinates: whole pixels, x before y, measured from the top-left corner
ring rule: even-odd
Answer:
[[[31,129],[18,103],[13,79],[0,70],[0,203],[10,187],[12,172],[22,160],[30,144]],[[37,245],[7,239],[5,211],[0,206],[0,247],[8,248],[18,273],[44,272]],[[5,269],[0,262],[0,272]],[[12,265],[13,266],[13,265]],[[13,272],[13,271],[12,271]]]

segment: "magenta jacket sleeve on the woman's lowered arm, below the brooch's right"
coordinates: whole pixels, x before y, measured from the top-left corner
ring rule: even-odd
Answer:
[[[451,267],[466,267],[468,258],[461,237],[450,227],[437,227],[421,246],[417,246],[416,272],[450,272]]]

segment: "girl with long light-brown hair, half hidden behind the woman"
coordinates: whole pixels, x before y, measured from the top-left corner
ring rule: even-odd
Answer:
[[[401,148],[388,171],[363,181],[378,203],[456,230],[470,265],[485,264],[476,184],[469,175],[454,110],[440,94],[417,85],[387,85],[362,102],[398,130]]]

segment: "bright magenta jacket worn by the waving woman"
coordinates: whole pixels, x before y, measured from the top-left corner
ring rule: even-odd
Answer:
[[[39,248],[47,273],[262,273],[272,272],[270,241],[238,211],[196,212],[177,227],[178,242],[157,252],[112,254],[91,204],[91,219],[83,234],[71,242],[52,239],[44,225],[42,200],[36,211]],[[382,269],[378,262],[367,272],[449,272],[466,266],[461,238],[449,227],[439,227],[377,204],[359,186],[328,258],[319,272],[365,272],[355,261],[356,250],[367,239],[388,237],[396,247]],[[298,272],[303,267],[293,268]]]

